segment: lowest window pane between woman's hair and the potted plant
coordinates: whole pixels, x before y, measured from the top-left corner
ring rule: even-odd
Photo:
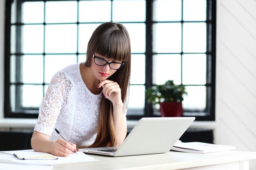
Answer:
[[[142,110],[144,108],[145,101],[145,86],[131,85],[129,95],[129,109]],[[132,115],[134,115],[132,113]]]

